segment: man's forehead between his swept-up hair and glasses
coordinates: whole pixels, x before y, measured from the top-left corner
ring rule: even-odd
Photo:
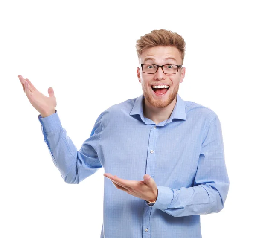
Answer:
[[[147,60],[151,58],[150,60]],[[166,59],[173,58],[173,59]],[[180,52],[175,46],[154,46],[148,49],[143,50],[140,55],[141,64],[146,62],[154,61],[155,63],[164,63],[164,62],[173,62],[181,64]]]

